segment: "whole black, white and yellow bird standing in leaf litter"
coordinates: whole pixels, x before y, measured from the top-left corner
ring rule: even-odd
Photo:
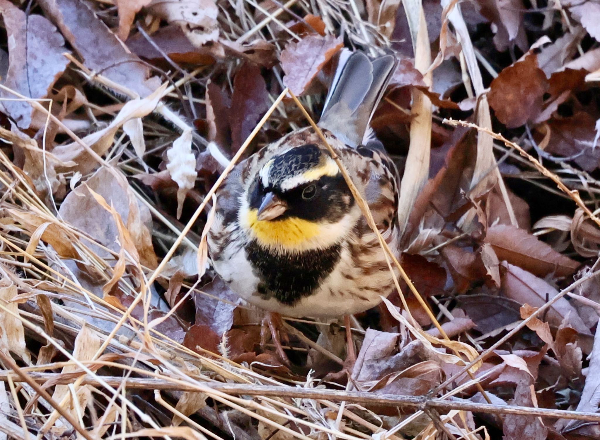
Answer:
[[[394,55],[344,50],[318,127],[398,254],[400,178],[369,123],[397,68]],[[208,251],[215,272],[265,310],[280,358],[281,315],[341,318],[377,306],[394,279],[377,235],[313,127],[236,164],[217,191]],[[351,342],[351,339],[349,339]],[[349,357],[355,358],[353,346]]]

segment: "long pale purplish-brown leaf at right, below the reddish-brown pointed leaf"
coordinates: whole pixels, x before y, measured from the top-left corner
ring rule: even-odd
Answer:
[[[529,304],[532,307],[541,307],[546,301],[551,300],[558,291],[547,282],[523,269],[502,262],[502,294],[520,304]],[[553,327],[560,327],[563,321],[568,322],[572,328],[582,334],[590,334],[590,329],[581,320],[577,310],[565,298],[560,298],[548,310],[546,321]]]

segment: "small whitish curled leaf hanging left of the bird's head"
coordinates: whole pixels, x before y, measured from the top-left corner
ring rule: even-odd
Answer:
[[[185,196],[196,182],[196,156],[191,152],[191,131],[186,130],[167,151],[167,170],[178,185],[177,218],[181,217]]]

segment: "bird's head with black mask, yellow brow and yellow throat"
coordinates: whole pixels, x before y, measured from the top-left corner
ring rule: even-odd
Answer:
[[[269,159],[248,188],[247,203],[242,224],[260,244],[300,251],[346,234],[340,228],[350,227],[354,199],[328,152],[309,143]]]

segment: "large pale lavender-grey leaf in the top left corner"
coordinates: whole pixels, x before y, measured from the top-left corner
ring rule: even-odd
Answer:
[[[45,98],[69,61],[65,40],[46,18],[27,16],[8,0],[0,0],[0,14],[8,34],[8,71],[4,86],[32,99]],[[16,98],[0,91],[2,98]],[[2,101],[4,111],[19,128],[29,128],[33,107],[26,101]]]

